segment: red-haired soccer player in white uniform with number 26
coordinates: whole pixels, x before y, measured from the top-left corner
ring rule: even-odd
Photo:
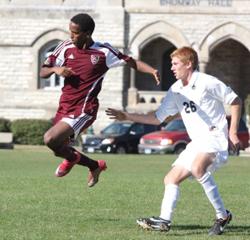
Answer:
[[[179,185],[192,176],[203,187],[212,204],[216,221],[209,235],[220,235],[231,221],[232,214],[224,207],[211,173],[227,161],[228,139],[237,151],[237,129],[241,115],[241,100],[234,91],[217,78],[198,72],[198,56],[190,47],[182,47],[171,54],[177,81],[170,87],[155,112],[127,113],[107,109],[111,119],[160,124],[180,114],[191,142],[178,156],[164,178],[165,193],[159,217],[140,218],[142,228],[168,231],[179,197]],[[228,133],[224,104],[231,107],[231,125]]]

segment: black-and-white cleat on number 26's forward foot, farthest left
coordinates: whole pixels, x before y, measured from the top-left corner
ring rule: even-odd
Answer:
[[[139,218],[136,220],[137,224],[143,229],[168,232],[170,230],[171,222],[160,217]]]

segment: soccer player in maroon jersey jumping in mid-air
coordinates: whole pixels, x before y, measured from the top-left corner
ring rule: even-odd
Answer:
[[[108,43],[95,42],[91,35],[95,22],[88,14],[75,15],[69,24],[70,39],[60,43],[45,60],[40,76],[47,78],[53,73],[64,77],[64,87],[54,125],[44,134],[45,144],[56,156],[64,158],[55,175],[63,177],[75,164],[89,168],[88,186],[93,187],[100,173],[106,169],[104,160],[95,161],[70,146],[69,140],[76,138],[96,119],[98,94],[106,72],[127,64],[140,72],[151,74],[159,84],[156,69],[135,60]]]

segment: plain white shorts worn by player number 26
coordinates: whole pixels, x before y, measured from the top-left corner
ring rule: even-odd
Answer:
[[[204,144],[201,144],[200,142],[198,143],[198,141],[196,143],[192,141],[187,145],[186,149],[183,152],[181,152],[181,154],[174,161],[172,166],[179,165],[191,172],[193,161],[195,160],[198,153],[215,154],[213,163],[207,169],[207,171],[209,172],[213,172],[218,168],[220,168],[227,162],[228,159],[227,150],[219,151],[216,147],[213,147],[211,145],[205,147]]]

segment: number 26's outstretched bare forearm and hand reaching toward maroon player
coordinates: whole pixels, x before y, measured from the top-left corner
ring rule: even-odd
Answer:
[[[132,122],[139,122],[145,124],[159,125],[161,122],[156,118],[155,111],[143,114],[143,113],[128,113],[125,111],[108,108],[106,114],[110,119],[119,121],[129,120]]]

